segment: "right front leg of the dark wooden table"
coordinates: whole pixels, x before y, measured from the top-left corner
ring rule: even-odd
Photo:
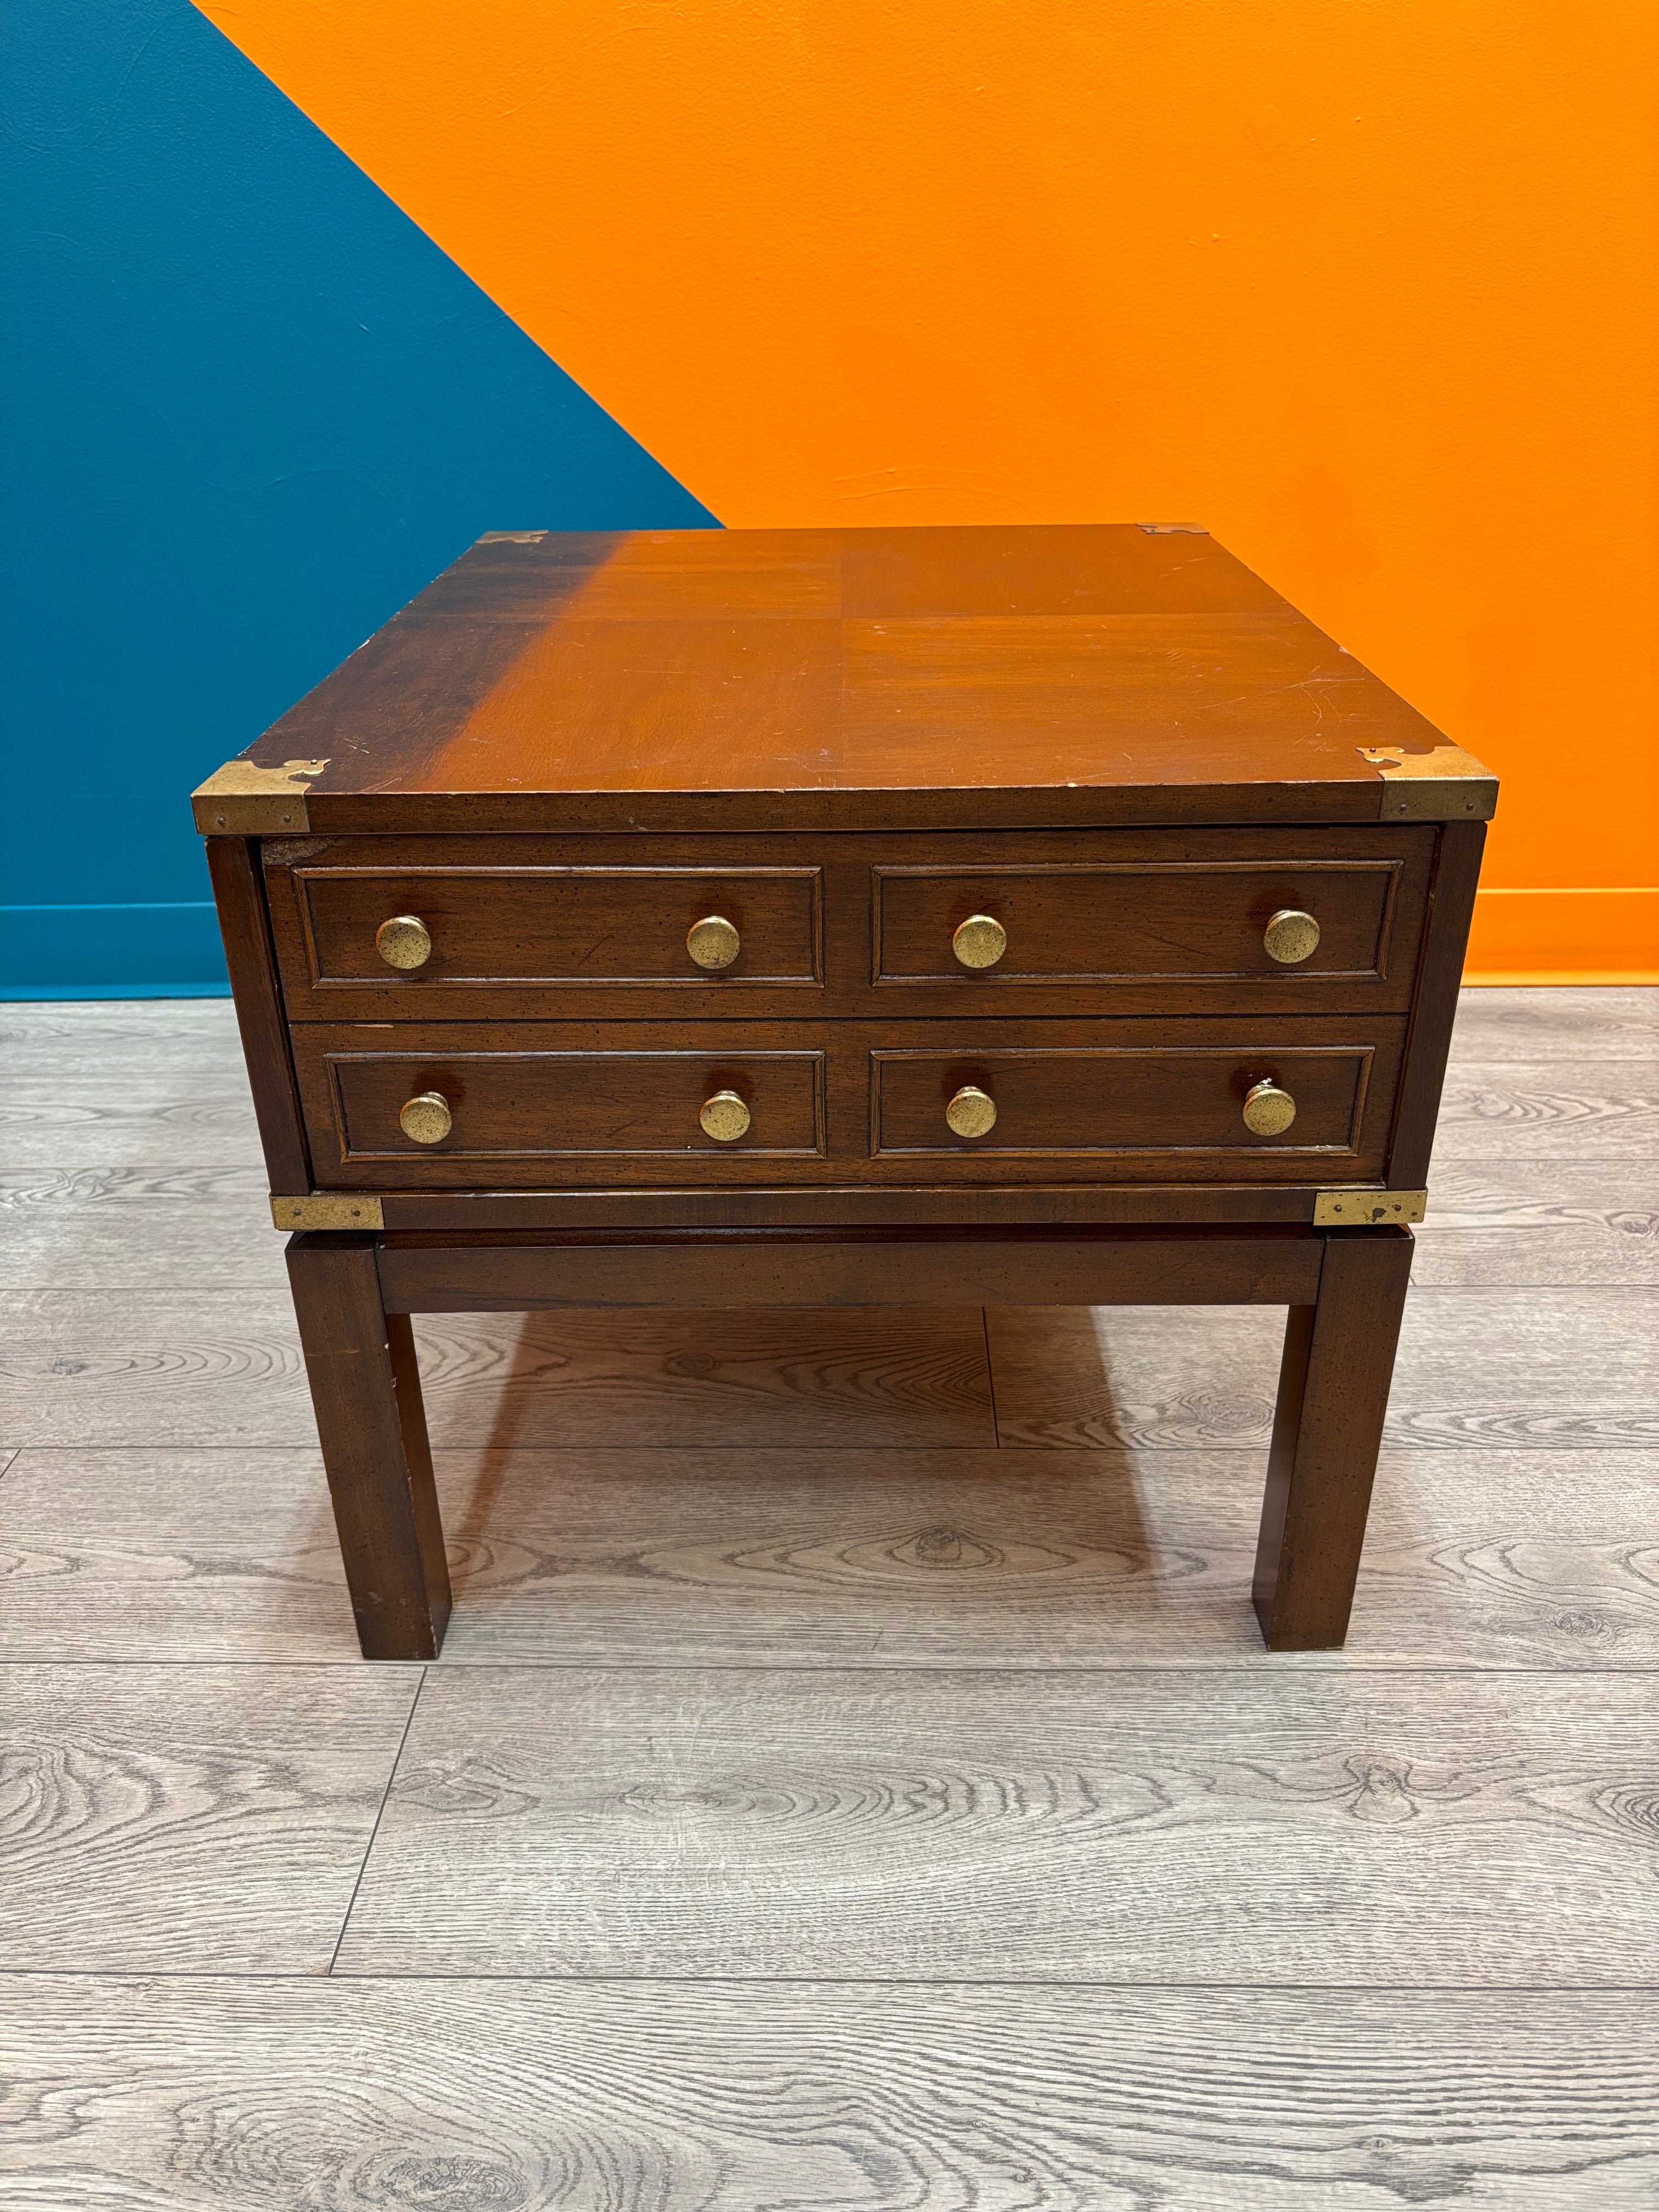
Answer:
[[[1347,1635],[1409,1279],[1409,1230],[1343,1230],[1290,1310],[1252,1590],[1270,1650]]]

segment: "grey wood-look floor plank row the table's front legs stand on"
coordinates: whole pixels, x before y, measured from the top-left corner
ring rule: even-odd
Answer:
[[[440,1453],[445,1666],[1659,1668],[1652,1460],[1402,1451],[1345,1652],[1261,1648],[1252,1453]],[[0,1657],[356,1666],[314,1451],[29,1451]]]

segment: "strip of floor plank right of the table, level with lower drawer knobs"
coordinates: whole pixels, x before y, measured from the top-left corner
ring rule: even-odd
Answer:
[[[1433,1159],[1659,1159],[1659,1057],[1458,1060]]]

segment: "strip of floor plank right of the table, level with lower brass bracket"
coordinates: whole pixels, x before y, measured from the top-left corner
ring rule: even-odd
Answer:
[[[1659,1164],[1449,1159],[1416,1232],[1418,1285],[1659,1283]]]

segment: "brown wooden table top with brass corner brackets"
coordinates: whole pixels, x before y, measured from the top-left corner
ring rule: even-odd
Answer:
[[[495,531],[197,825],[1422,821],[1493,794],[1203,531]]]

